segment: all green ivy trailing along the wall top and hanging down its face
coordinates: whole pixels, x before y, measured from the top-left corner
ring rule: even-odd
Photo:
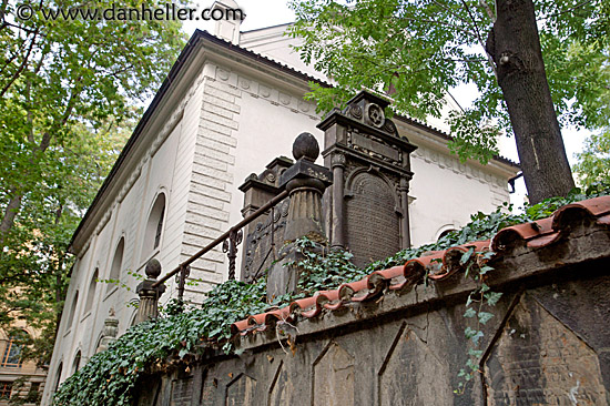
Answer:
[[[568,197],[551,199],[529,206],[523,213],[505,213],[511,207],[502,207],[488,216],[477,213],[466,227],[449,233],[437,243],[401,251],[364,270],[357,268],[350,262],[352,254],[348,252],[329,248],[306,237],[299,238],[296,246],[303,258],[296,263],[302,268],[298,294],[276,297],[268,304],[265,277],[261,277],[253,284],[227,281],[217,285],[207,293],[201,307],[191,307],[183,313],[180,313],[182,304],[170,303],[161,318],[131,327],[108,351],[94,355],[77,374],[68,378],[57,393],[53,405],[130,405],[135,382],[141,374],[163,371],[181,358],[180,362],[185,367],[192,359],[189,354],[196,354],[205,348],[231,353],[231,324],[248,315],[265,312],[270,307],[285,306],[295,298],[311,296],[318,291],[337,288],[340,284],[360,280],[375,270],[404,264],[426,251],[446,250],[469,241],[488,238],[501,227],[546,217],[561,205],[602,194],[610,194],[610,186],[588,191],[588,194],[575,191]],[[489,256],[490,253],[481,255]],[[494,317],[487,308],[495,306],[501,297],[501,293],[491,292],[485,282],[492,268],[479,265],[476,260],[474,250],[467,251],[461,257],[462,264],[469,270],[467,277],[474,278],[478,284],[468,297],[464,315],[475,322],[474,326],[468,326],[465,331],[466,338],[471,343],[467,367],[460,372],[460,377],[466,382],[478,371],[478,358],[482,355],[478,348],[484,337],[481,325]]]

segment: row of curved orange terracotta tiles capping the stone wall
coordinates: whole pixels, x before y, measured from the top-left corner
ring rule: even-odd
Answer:
[[[610,196],[565,205],[550,217],[502,229],[491,240],[430,252],[426,256],[407,261],[405,265],[375,271],[363,280],[343,284],[336,290],[317,292],[312,297],[294,301],[283,308],[251,315],[234,323],[231,329],[234,334],[248,335],[266,331],[277,322],[295,323],[299,316],[313,318],[323,312],[336,312],[345,306],[377,301],[390,292],[406,293],[423,283],[426,274],[433,283],[443,284],[451,275],[465,271],[460,260],[470,248],[474,248],[479,264],[501,262],[519,250],[536,251],[559,243],[583,219],[587,224],[609,227]],[[481,255],[489,251],[492,252],[490,256]],[[342,315],[340,312],[336,313]]]

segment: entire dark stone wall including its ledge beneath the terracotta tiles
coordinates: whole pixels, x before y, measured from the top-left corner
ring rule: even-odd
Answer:
[[[258,322],[237,328],[238,356],[209,351],[149,375],[138,405],[607,405],[606,217],[566,210],[552,222],[560,229],[543,230],[546,219],[533,238],[530,224],[496,236],[489,284],[504,295],[484,328],[481,374],[464,394],[454,389],[468,357],[464,329],[475,327],[464,317],[475,285],[449,266],[427,285],[385,285],[316,316],[252,317]]]

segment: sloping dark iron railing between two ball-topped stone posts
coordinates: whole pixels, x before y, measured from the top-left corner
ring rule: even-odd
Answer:
[[[243,232],[242,229],[250,223],[252,223],[254,220],[258,219],[261,215],[265,214],[267,210],[273,209],[277,203],[282,202],[284,199],[288,196],[288,191],[283,191],[277,196],[270,200],[267,203],[265,203],[261,209],[257,209],[254,213],[246,216],[244,220],[228,229],[228,231],[224,232],[221,236],[218,236],[216,240],[212,241],[210,244],[197,251],[193,256],[191,256],[189,260],[184,261],[177,267],[175,267],[172,272],[167,273],[165,276],[163,276],[161,280],[156,281],[152,287],[156,287],[167,281],[170,277],[176,275],[176,283],[177,283],[177,300],[182,302],[184,296],[184,285],[186,283],[186,278],[191,274],[191,264],[199,260],[201,256],[206,254],[207,252],[212,251],[216,245],[223,243],[223,252],[226,253],[226,256],[228,257],[228,278],[234,280],[235,278],[235,260],[237,258],[237,245],[243,240]],[[273,215],[273,214],[272,214]],[[272,227],[273,227],[273,219],[272,219]]]

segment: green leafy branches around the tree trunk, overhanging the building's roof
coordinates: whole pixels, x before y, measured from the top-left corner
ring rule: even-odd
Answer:
[[[319,110],[340,105],[362,88],[392,88],[397,112],[440,118],[447,94],[474,84],[480,95],[472,106],[449,118],[451,149],[460,159],[487,162],[499,131],[511,133],[496,65],[485,50],[496,18],[492,1],[293,0],[291,7],[297,19],[291,35],[303,39],[296,50],[335,84],[312,88]],[[560,122],[606,126],[610,1],[543,0],[535,7]]]

